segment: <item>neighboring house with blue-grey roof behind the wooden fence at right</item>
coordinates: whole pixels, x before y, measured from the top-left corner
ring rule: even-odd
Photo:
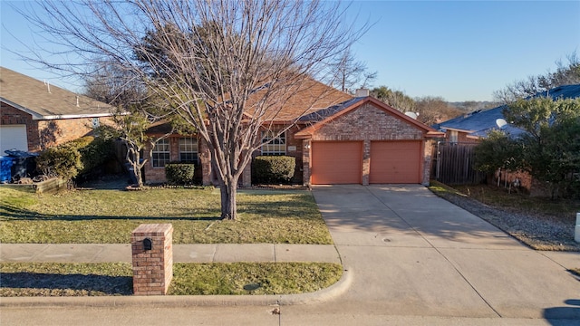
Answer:
[[[537,93],[535,97],[575,99],[580,97],[580,84],[559,86]],[[477,143],[479,139],[486,138],[492,129],[504,129],[509,135],[517,137],[525,131],[509,123],[504,124],[503,111],[506,109],[506,105],[501,105],[489,110],[476,110],[433,127],[445,132],[449,143]]]

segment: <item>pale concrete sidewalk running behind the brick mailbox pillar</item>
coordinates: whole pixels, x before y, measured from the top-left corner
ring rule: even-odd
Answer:
[[[341,264],[334,245],[173,245],[175,263],[320,262]],[[131,263],[131,245],[2,244],[2,263]]]

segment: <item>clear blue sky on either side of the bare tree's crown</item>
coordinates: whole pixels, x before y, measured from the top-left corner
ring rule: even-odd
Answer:
[[[34,37],[8,3],[0,3],[0,64],[77,91],[70,80],[6,51],[25,51],[15,38],[32,43]],[[353,52],[370,71],[378,72],[373,86],[411,97],[490,101],[493,91],[554,71],[555,62],[567,62],[571,53],[580,56],[577,0],[354,1],[349,12],[372,24]]]

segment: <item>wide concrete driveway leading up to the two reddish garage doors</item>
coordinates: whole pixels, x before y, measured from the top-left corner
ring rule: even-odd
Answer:
[[[580,282],[564,266],[425,187],[319,186],[314,197],[353,270],[337,314],[580,320]]]

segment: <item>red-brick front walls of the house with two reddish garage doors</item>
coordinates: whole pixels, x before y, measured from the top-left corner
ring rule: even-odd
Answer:
[[[326,114],[304,116],[295,126],[285,131],[284,154],[296,159],[294,182],[304,185],[313,184],[312,144],[340,141],[358,141],[362,143],[362,176],[363,185],[371,183],[372,144],[375,141],[416,146],[413,157],[416,158],[416,178],[409,178],[403,183],[429,184],[431,142],[434,137],[442,137],[443,133],[412,120],[398,110],[371,97],[351,98],[332,108],[324,108]],[[314,118],[315,117],[315,118]],[[325,117],[325,118],[324,118]],[[278,123],[274,130],[284,128]],[[159,135],[158,135],[159,136]],[[163,148],[167,161],[179,161],[179,139],[192,136],[171,135],[164,139]],[[197,138],[196,138],[197,139]],[[204,185],[215,184],[212,176],[208,146],[203,140],[198,142],[198,168],[201,171],[200,179]],[[156,147],[157,148],[157,147]],[[166,181],[165,169],[153,162],[150,157],[150,148],[145,149],[143,158],[149,162],[145,165],[145,181],[148,183],[162,183]],[[254,156],[261,155],[258,149]],[[339,154],[339,153],[337,153]],[[154,154],[155,155],[155,154]],[[375,157],[378,154],[374,154]],[[395,155],[396,156],[396,155]],[[375,163],[376,164],[376,163]],[[404,162],[403,162],[404,164]],[[248,166],[241,177],[241,186],[251,186],[251,167]]]

